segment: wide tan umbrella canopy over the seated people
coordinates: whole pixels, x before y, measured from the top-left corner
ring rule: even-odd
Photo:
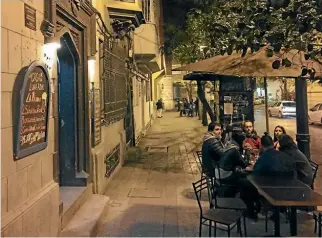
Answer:
[[[291,67],[281,66],[279,69],[273,69],[272,63],[283,57],[293,62]],[[248,52],[244,57],[241,53],[234,52],[231,55],[219,55],[205,59],[196,63],[188,64],[173,71],[189,71],[213,73],[217,75],[234,75],[240,77],[298,77],[302,73],[302,66],[313,67],[316,71],[315,76],[322,76],[322,64],[318,61],[305,60],[304,52],[298,50],[284,50],[282,53],[274,54],[273,57],[267,57],[266,47],[258,52]]]

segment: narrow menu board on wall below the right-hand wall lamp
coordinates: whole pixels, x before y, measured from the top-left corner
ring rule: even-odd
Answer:
[[[92,138],[93,146],[101,143],[101,101],[100,101],[100,90],[93,89],[93,119],[92,119]]]

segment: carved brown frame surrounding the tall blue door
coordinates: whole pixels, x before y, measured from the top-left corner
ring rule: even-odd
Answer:
[[[52,38],[59,41],[64,34],[69,34],[79,54],[76,81],[76,120],[77,148],[81,171],[76,173],[71,181],[65,181],[67,186],[86,186],[92,181],[91,168],[91,133],[89,111],[89,79],[88,57],[96,54],[96,10],[89,1],[61,0],[46,1],[46,20],[44,23],[53,23],[55,33]],[[49,22],[49,23],[48,23]],[[43,24],[46,26],[46,24]],[[48,32],[48,31],[47,31]],[[46,30],[44,31],[44,34]],[[58,105],[58,97],[55,99]],[[56,126],[58,121],[56,120]],[[58,127],[57,127],[58,128]],[[57,134],[58,136],[58,134]],[[58,144],[58,141],[56,141]]]

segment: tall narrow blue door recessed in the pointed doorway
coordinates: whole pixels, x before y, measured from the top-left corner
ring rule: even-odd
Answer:
[[[59,174],[61,186],[86,186],[87,174],[83,118],[79,108],[84,108],[79,86],[83,77],[79,71],[80,56],[69,33],[60,39],[58,55],[58,109],[59,109]],[[83,118],[80,118],[83,117]]]

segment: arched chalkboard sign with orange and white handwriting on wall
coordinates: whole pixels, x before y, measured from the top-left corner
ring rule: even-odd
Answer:
[[[16,160],[47,147],[49,100],[48,71],[43,63],[35,61],[27,68],[15,100],[19,103],[14,143]]]

